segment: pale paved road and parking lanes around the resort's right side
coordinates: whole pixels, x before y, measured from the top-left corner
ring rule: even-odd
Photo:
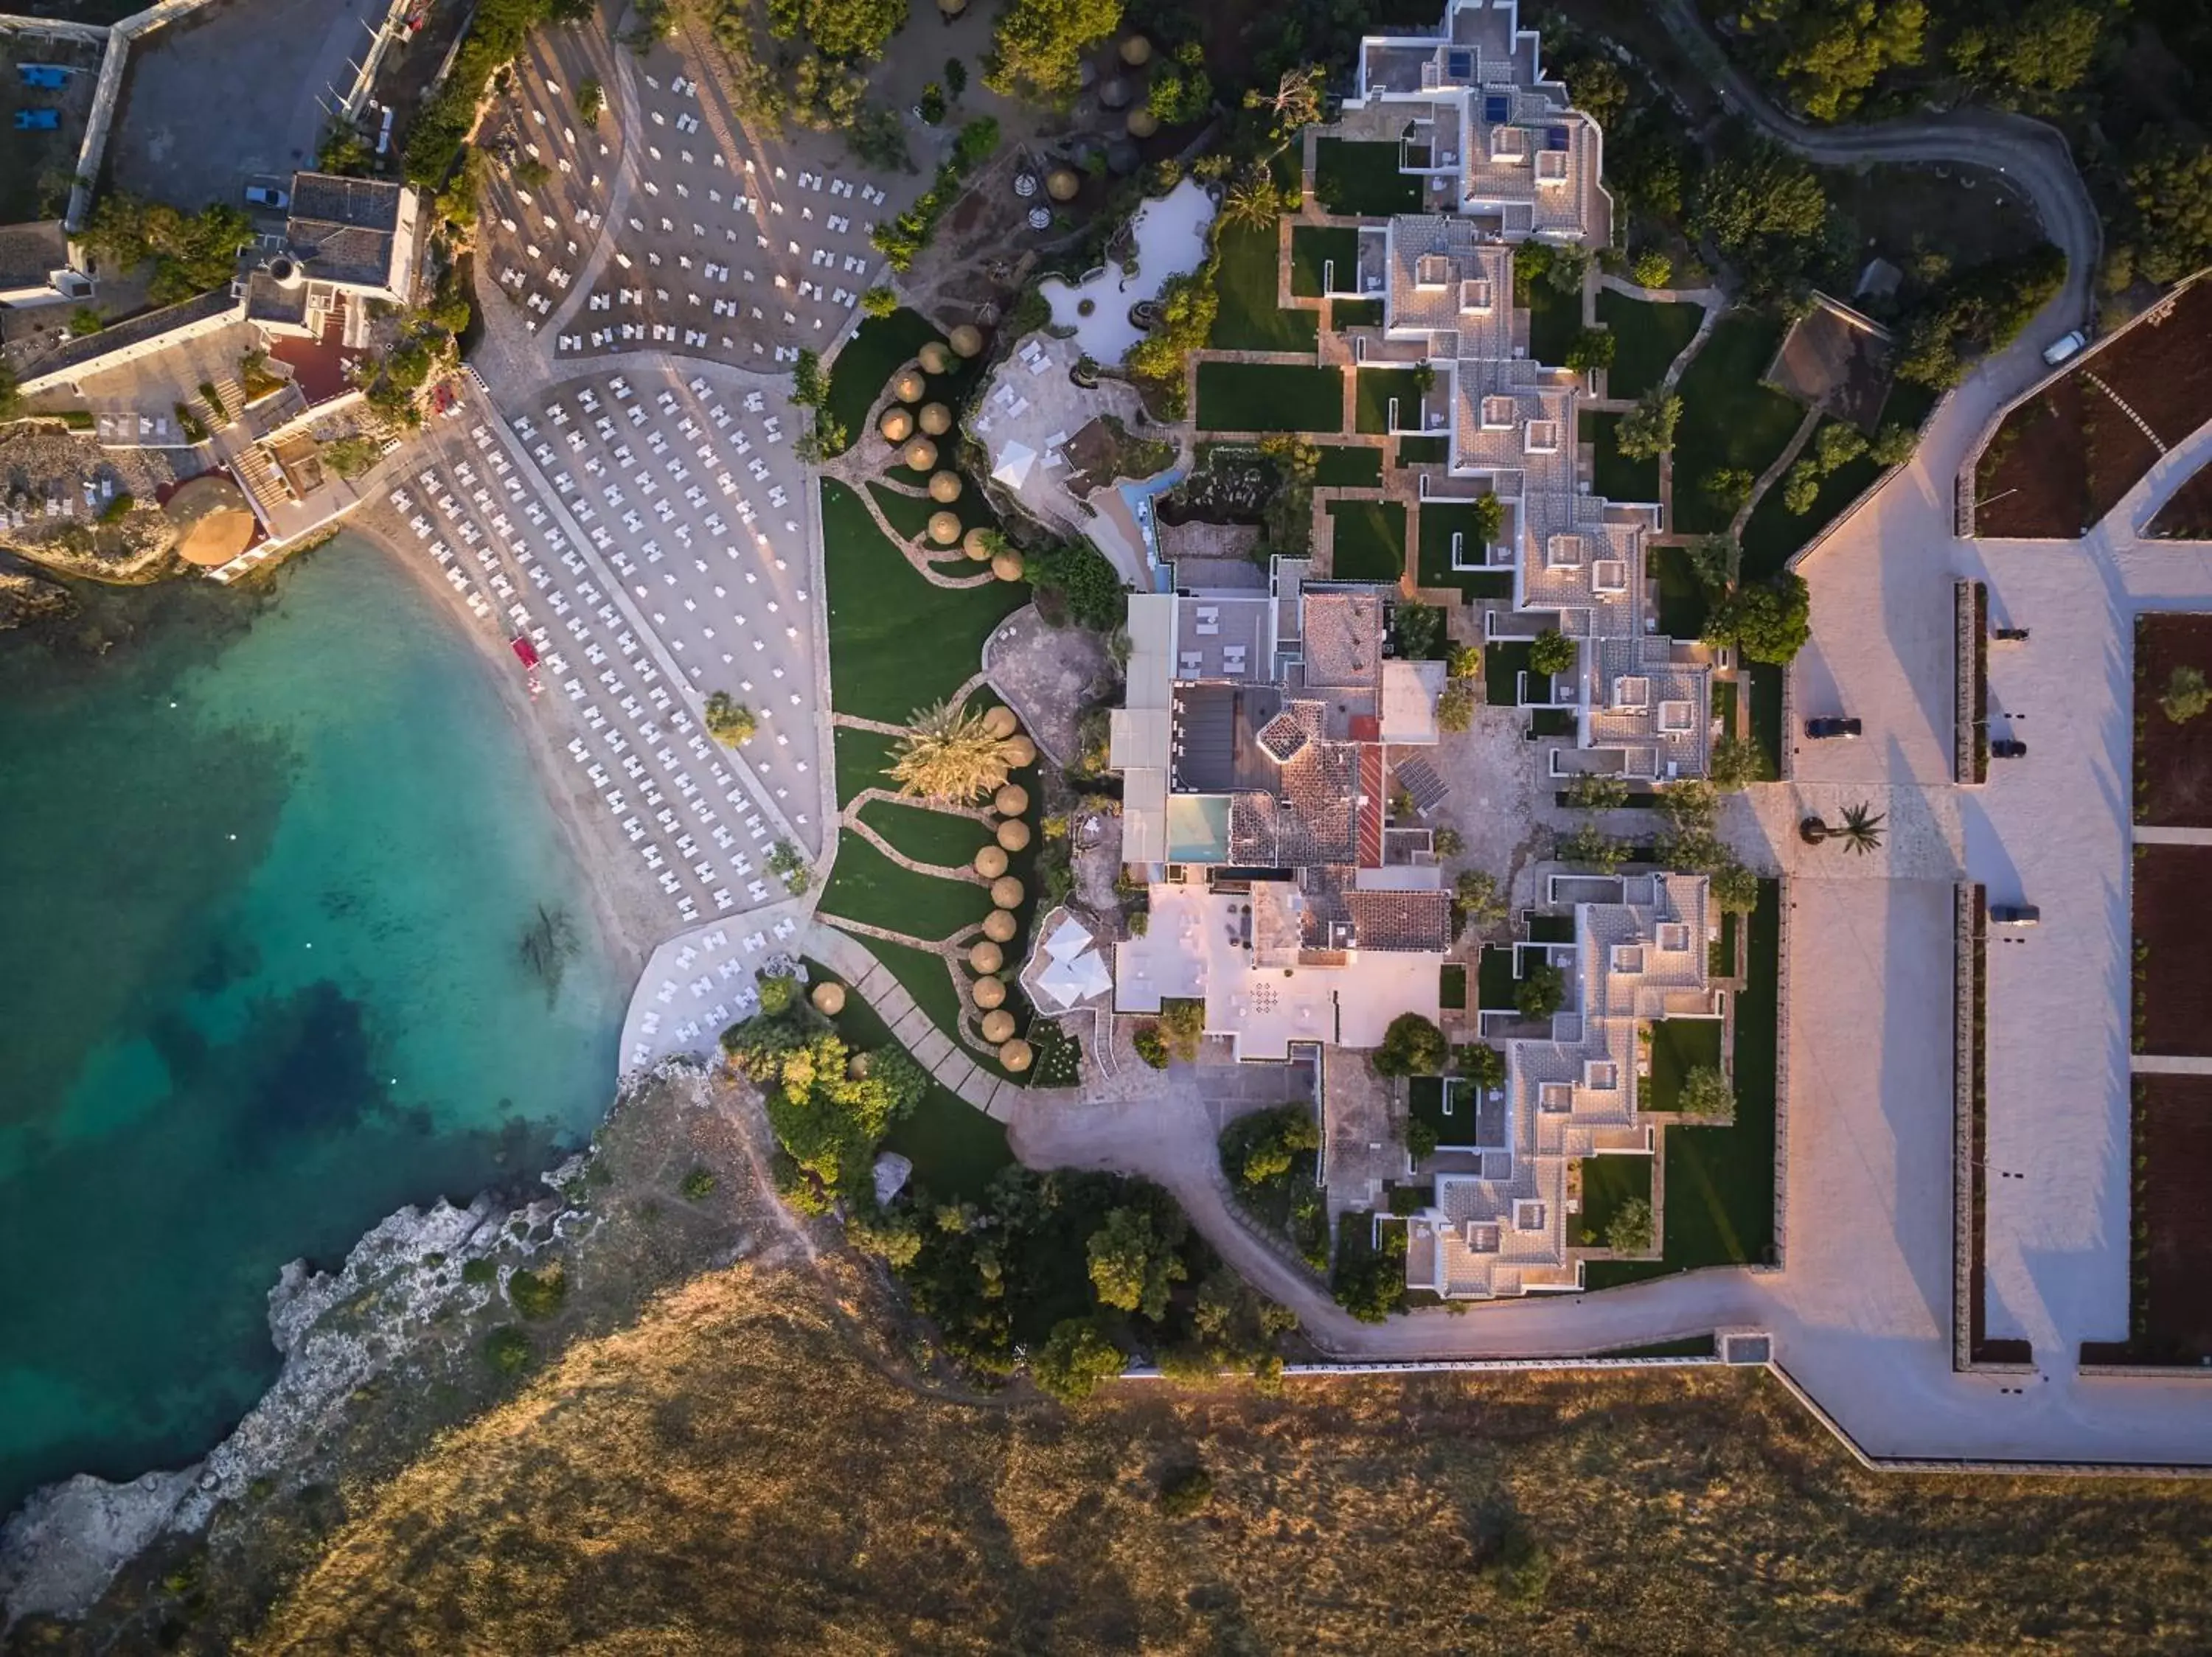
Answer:
[[[2068,938],[2044,940],[2053,969],[2024,951],[1997,951],[1991,1029],[2020,1029],[2028,1057],[2004,1055],[2022,1088],[2051,1108],[2002,1117],[1991,1071],[1991,1334],[2035,1343],[2033,1374],[1958,1374],[1951,1367],[1953,1301],[1953,936],[1951,894],[1960,878],[2013,874],[2015,861],[2073,858],[2099,903],[2084,936],[2095,949],[2126,949],[2124,911],[2115,945],[2101,936],[2110,887],[2126,872],[2124,843],[2066,832],[2068,810],[2110,805],[2112,759],[2095,743],[2062,748],[2039,781],[2026,772],[1986,790],[1951,781],[1951,586],[1984,577],[2020,604],[2064,604],[2084,622],[2088,661],[2126,661],[2128,582],[2112,577],[2104,542],[2044,546],[2059,597],[2013,582],[2004,549],[1955,538],[1958,469],[1989,423],[2044,376],[2042,350],[2088,319],[2101,232],[2079,173],[2055,131],[2039,122],[1964,111],[1931,119],[1814,131],[1763,100],[1719,53],[1683,0],[1661,0],[1661,18],[1728,102],[1781,144],[1823,164],[1944,161],[2000,168],[2066,252],[2059,294],[2004,352],[1991,356],[1938,407],[1911,465],[1840,522],[1805,562],[1816,617],[1814,646],[1792,670],[1803,706],[1840,697],[1865,710],[1880,739],[1823,743],[1847,754],[1807,754],[1798,777],[1814,785],[1916,790],[1969,819],[1958,867],[1845,869],[1803,847],[1765,847],[1790,874],[1787,1018],[1787,1203],[1785,1265],[1717,1268],[1608,1290],[1475,1305],[1464,1316],[1416,1312],[1363,1325],[1336,1307],[1298,1268],[1254,1237],[1230,1210],[1214,1157],[1214,1115],[1181,1084],[1141,1100],[1086,1100],[1077,1108],[1022,1106],[1011,1122],[1015,1153],[1031,1166],[1119,1168],[1157,1179],[1192,1223],[1256,1288],[1292,1307],[1310,1338],[1347,1361],[1458,1361],[1595,1354],[1708,1330],[1763,1330],[1774,1365],[1869,1458],[1889,1467],[2166,1467],[2212,1462],[2212,1380],[2194,1374],[2081,1376],[2081,1341],[2126,1334],[2126,978],[2110,1007],[2097,971],[2073,973]],[[2212,454],[2212,427],[2197,434],[2121,502],[2099,535],[2121,533],[2170,496]],[[2115,531],[2112,527],[2119,527]],[[2172,582],[2172,560],[2161,569]],[[2161,588],[2168,606],[2212,608]],[[2073,582],[2070,586],[2066,582]],[[2048,582],[2046,582],[2048,584]],[[2185,586],[2185,584],[2183,584]],[[2093,602],[2099,588],[2115,597]],[[2057,631],[2059,617],[2042,628]],[[2046,655],[2048,675],[2068,673],[2073,648]],[[2117,730],[2126,746],[2126,673],[2095,684],[2084,719],[2097,741]],[[2002,688],[2002,686],[2000,686]],[[2017,697],[2033,697],[2022,684]],[[2064,699],[2051,688],[2051,704]],[[2051,706],[2035,701],[2033,706]],[[2022,706],[2017,699],[2013,706]],[[2077,768],[2077,770],[2068,770]],[[2121,763],[2119,777],[2126,777]],[[1774,785],[1790,788],[1787,783]],[[2002,790],[2011,790],[2006,796]],[[2124,792],[2121,792],[2124,799]],[[2124,823],[2126,807],[2119,807]],[[2108,827],[2108,825],[2106,825]],[[2099,830],[2101,832],[2101,830]],[[2108,836],[2110,838],[2110,836]],[[2013,847],[2013,850],[2008,850]],[[2044,898],[2046,916],[2053,898]],[[2044,927],[2053,931],[2053,927]],[[2070,1000],[2035,1000],[2039,984],[2068,984]],[[2026,998],[2022,1000],[2008,998]],[[2051,1080],[2035,1082],[2031,1071]]]

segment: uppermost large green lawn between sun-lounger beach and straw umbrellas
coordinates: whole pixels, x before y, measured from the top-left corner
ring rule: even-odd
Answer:
[[[1029,602],[1024,582],[931,586],[845,484],[823,480],[832,706],[905,723],[982,661],[991,628]]]

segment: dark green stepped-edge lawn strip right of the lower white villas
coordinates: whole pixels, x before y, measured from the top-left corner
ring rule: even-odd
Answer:
[[[1736,993],[1736,1124],[1668,1128],[1666,1254],[1650,1263],[1593,1263],[1593,1290],[1699,1265],[1761,1263],[1774,1250],[1774,1069],[1781,885],[1759,883],[1750,971]]]

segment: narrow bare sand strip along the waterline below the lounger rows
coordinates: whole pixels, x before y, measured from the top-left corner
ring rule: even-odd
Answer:
[[[635,982],[655,945],[677,931],[668,898],[653,885],[646,867],[624,845],[622,830],[606,814],[582,768],[571,763],[562,743],[571,732],[560,721],[560,699],[540,692],[531,701],[522,668],[507,648],[507,635],[469,613],[462,597],[438,580],[438,566],[418,549],[407,524],[380,498],[369,500],[345,520],[345,535],[367,542],[378,557],[389,557],[431,595],[438,613],[456,633],[473,644],[491,668],[515,739],[531,757],[531,770],[560,823],[562,838],[584,867],[593,894],[593,911],[606,947],[622,976]],[[330,555],[330,549],[323,551]]]

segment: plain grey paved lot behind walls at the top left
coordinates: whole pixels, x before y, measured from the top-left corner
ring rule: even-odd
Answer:
[[[389,0],[219,0],[131,51],[108,139],[115,186],[197,212],[312,166],[325,106]]]

